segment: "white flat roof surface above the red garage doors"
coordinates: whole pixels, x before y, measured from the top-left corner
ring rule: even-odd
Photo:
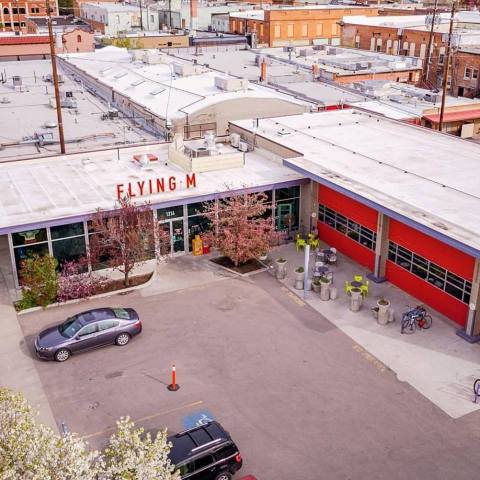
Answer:
[[[251,130],[251,121],[231,123]],[[301,153],[284,160],[298,172],[480,256],[479,145],[355,110],[262,119],[256,134]]]

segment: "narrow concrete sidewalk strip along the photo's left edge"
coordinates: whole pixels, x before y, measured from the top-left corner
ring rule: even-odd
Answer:
[[[2,248],[3,247],[3,248]],[[2,252],[5,245],[0,245],[0,259],[10,261],[10,254]],[[12,305],[9,292],[9,265],[0,267],[0,385],[22,392],[39,412],[39,421],[58,431],[50,404],[43,391],[43,386],[35,368],[33,353],[25,345],[22,329],[17,320],[17,313]],[[11,271],[11,268],[10,268]]]

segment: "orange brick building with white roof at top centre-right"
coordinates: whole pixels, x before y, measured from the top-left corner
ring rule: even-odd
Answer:
[[[345,15],[376,16],[377,8],[316,5],[308,7],[272,7],[230,14],[230,32],[256,32],[259,45],[340,44],[339,22]]]

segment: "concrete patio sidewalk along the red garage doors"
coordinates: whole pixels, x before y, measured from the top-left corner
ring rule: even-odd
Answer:
[[[304,254],[294,245],[286,245],[272,252],[272,258],[287,259],[288,275],[282,283],[303,299],[303,291],[295,290],[294,270],[303,265]],[[313,257],[311,257],[313,258]],[[393,370],[400,381],[409,383],[422,395],[452,418],[459,418],[480,409],[473,403],[473,382],[480,377],[480,345],[471,345],[455,334],[456,326],[440,313],[427,307],[433,317],[429,330],[417,330],[412,335],[400,334],[400,318],[408,305],[422,302],[394,285],[370,282],[369,296],[360,312],[349,309],[349,297],[343,290],[346,280],[354,275],[368,273],[352,260],[339,255],[333,266],[333,286],[338,289],[334,301],[322,301],[319,294],[310,291],[305,301],[342,330],[363,349],[377,357]],[[371,307],[379,298],[390,301],[396,321],[387,326],[379,325],[373,318]]]

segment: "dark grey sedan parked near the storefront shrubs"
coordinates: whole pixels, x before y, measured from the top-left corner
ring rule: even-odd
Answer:
[[[142,322],[132,308],[96,308],[40,332],[35,351],[40,358],[64,362],[72,353],[114,343],[126,345],[141,331]]]

